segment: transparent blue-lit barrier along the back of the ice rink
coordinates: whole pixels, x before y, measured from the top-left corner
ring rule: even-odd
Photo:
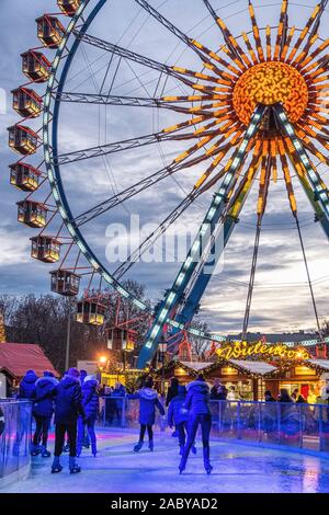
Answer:
[[[213,439],[329,451],[329,404],[212,400],[209,405]],[[100,399],[100,427],[138,430],[138,400]],[[167,414],[157,411],[155,428],[167,426]]]

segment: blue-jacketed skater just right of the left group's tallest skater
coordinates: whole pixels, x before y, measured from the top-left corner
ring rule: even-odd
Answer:
[[[78,444],[77,456],[79,457],[83,445],[84,424],[87,425],[88,434],[91,442],[91,451],[93,456],[97,455],[97,437],[94,432],[94,423],[99,414],[100,398],[98,393],[99,381],[94,376],[86,376],[81,386],[82,389],[82,407],[84,410],[84,423],[80,415],[78,420]]]

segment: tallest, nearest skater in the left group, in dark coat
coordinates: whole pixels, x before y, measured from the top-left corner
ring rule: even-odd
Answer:
[[[82,390],[79,381],[79,370],[70,368],[67,375],[56,387],[55,397],[55,453],[52,472],[57,473],[63,470],[59,457],[63,451],[65,433],[68,434],[70,457],[69,469],[71,473],[81,471],[76,462],[77,456],[77,422],[79,415],[84,420],[82,407]]]

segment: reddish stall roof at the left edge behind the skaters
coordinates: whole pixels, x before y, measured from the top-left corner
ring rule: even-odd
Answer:
[[[49,359],[38,345],[27,343],[0,343],[0,371],[21,378],[33,369],[37,376],[50,370],[58,376]]]

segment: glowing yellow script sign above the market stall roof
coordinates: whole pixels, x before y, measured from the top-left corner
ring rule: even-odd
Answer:
[[[235,342],[222,348],[217,348],[218,357],[226,359],[243,359],[251,356],[263,356],[264,358],[280,357],[283,359],[309,359],[309,354],[305,348],[292,350],[282,343],[268,345],[263,342],[248,343]]]

